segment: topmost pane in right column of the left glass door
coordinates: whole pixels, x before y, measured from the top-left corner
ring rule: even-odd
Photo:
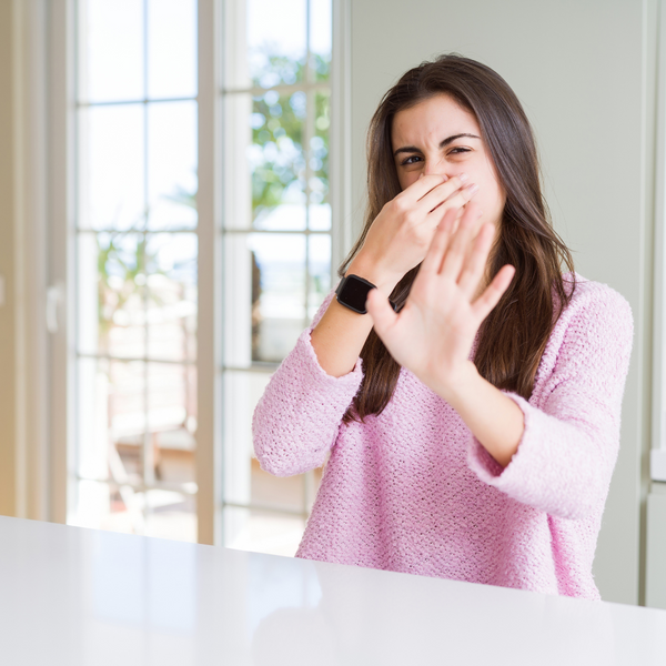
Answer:
[[[149,0],[148,97],[196,95],[196,1]]]

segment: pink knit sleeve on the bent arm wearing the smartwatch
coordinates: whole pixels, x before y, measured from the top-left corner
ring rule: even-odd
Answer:
[[[254,453],[261,467],[275,476],[302,474],[324,463],[363,380],[361,359],[352,372],[333,377],[322,370],[312,347],[310,334],[333,295],[324,300],[254,410]]]

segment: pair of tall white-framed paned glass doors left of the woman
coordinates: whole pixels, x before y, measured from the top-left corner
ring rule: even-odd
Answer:
[[[263,473],[251,417],[341,255],[331,0],[71,7],[68,519],[291,555],[321,471]]]

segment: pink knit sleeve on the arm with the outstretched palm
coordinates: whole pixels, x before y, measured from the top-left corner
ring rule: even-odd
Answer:
[[[523,411],[525,425],[508,465],[502,468],[474,436],[468,448],[470,466],[482,481],[572,519],[605,503],[633,340],[632,311],[617,292],[596,284],[581,301],[562,344],[549,352],[556,354],[553,373],[535,400],[504,392]]]

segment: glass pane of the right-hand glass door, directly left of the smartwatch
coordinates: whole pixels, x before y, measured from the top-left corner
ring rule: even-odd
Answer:
[[[280,362],[306,325],[305,236],[253,233],[253,361]]]

